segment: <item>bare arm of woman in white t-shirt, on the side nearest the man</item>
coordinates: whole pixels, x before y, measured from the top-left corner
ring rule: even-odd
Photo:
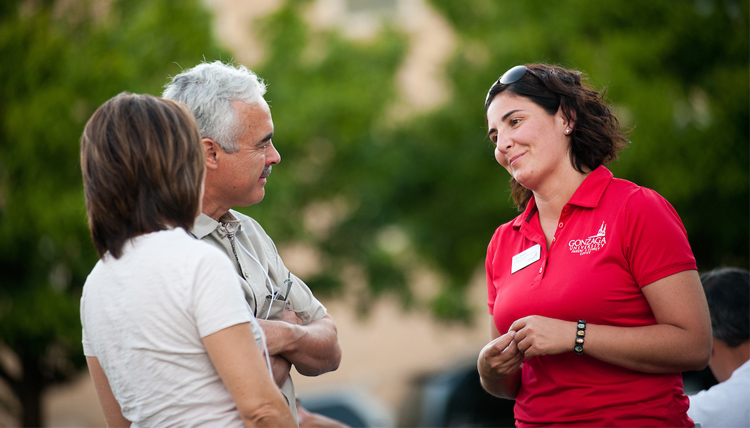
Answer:
[[[249,323],[210,334],[203,338],[203,345],[246,426],[297,426],[268,373]]]

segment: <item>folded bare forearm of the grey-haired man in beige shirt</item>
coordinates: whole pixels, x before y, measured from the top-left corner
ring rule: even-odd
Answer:
[[[302,325],[293,311],[284,311],[281,320],[258,320],[266,335],[268,352],[281,355],[305,376],[318,376],[336,370],[341,363],[341,346],[333,318],[326,315]]]

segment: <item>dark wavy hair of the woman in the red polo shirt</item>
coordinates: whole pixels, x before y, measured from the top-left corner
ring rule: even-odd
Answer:
[[[495,82],[484,104],[486,112],[495,97],[508,91],[542,107],[548,114],[562,107],[563,116],[574,123],[570,134],[570,163],[586,173],[609,165],[629,141],[617,117],[604,100],[604,91],[589,86],[580,72],[546,64],[526,64],[526,73],[517,81]],[[526,209],[532,192],[510,179],[511,196],[518,211]]]

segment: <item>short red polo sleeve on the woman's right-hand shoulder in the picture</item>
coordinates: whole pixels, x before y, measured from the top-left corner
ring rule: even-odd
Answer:
[[[628,200],[625,234],[625,257],[639,287],[697,269],[680,216],[651,189],[642,187]]]

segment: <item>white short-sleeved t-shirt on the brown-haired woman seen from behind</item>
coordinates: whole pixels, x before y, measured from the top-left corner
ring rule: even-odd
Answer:
[[[243,426],[201,338],[260,327],[226,255],[184,229],[141,235],[107,253],[81,297],[83,350],[97,357],[135,425]]]

